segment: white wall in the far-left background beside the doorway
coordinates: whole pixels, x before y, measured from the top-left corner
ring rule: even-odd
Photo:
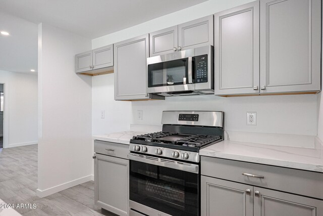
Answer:
[[[37,75],[0,70],[0,83],[5,83],[5,147],[36,144]]]

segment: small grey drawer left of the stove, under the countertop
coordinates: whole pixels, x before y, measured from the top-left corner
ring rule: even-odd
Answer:
[[[129,145],[94,140],[94,152],[127,159]]]

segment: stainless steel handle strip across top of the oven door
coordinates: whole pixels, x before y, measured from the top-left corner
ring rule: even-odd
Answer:
[[[177,161],[173,161],[174,163],[164,162],[164,161],[160,161],[160,158],[157,158],[157,157],[151,157],[153,159],[149,159],[149,157],[137,156],[137,154],[132,154],[132,153],[128,154],[128,158],[129,158],[129,160],[139,161],[139,162],[143,162],[143,163],[149,163],[149,164],[157,165],[157,166],[164,166],[164,167],[178,169],[178,170],[182,170],[182,171],[194,172],[194,173],[198,174],[198,164],[189,164],[189,163],[179,164]]]

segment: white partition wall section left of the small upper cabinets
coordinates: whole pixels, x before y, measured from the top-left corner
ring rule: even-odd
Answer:
[[[38,196],[91,179],[91,77],[75,74],[75,54],[91,40],[38,28]]]

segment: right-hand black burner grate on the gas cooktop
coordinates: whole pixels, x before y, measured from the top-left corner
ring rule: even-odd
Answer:
[[[174,142],[175,145],[189,146],[189,147],[201,147],[203,145],[220,140],[220,136],[211,135],[192,135]]]

